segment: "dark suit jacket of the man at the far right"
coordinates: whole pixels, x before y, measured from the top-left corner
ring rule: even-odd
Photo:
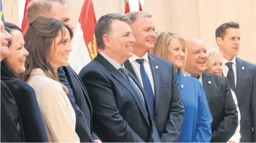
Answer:
[[[241,114],[240,142],[256,142],[256,65],[236,57],[236,76],[235,94]]]

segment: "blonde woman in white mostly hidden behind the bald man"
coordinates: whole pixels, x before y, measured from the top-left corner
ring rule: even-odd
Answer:
[[[208,56],[208,61],[206,63],[206,71],[209,73],[214,73],[216,75],[222,76],[222,60],[223,60],[223,56],[220,53],[220,51],[217,51],[215,48],[211,48],[209,50],[207,50],[207,56]],[[233,90],[231,90],[232,92],[232,96],[233,99],[236,103],[236,106],[238,105],[238,100],[236,99],[236,95],[235,92],[233,92]],[[240,112],[237,106],[237,111],[238,111],[238,127],[236,128],[236,132],[235,134],[232,136],[232,138],[230,138],[228,140],[228,142],[239,142],[239,139],[241,138],[240,136]]]

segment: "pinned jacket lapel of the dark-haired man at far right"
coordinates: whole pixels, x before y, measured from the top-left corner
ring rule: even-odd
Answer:
[[[234,91],[235,93],[241,90],[239,89],[239,84],[241,84],[241,81],[243,79],[244,69],[246,69],[246,67],[243,64],[243,60],[239,59],[239,57],[236,57],[236,89]],[[238,95],[239,94],[236,94],[236,97],[238,97]]]

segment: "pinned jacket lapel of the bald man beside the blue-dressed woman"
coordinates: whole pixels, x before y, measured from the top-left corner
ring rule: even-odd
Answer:
[[[210,96],[211,94],[209,94],[211,93],[211,82],[213,82],[211,79],[211,76],[212,75],[210,75],[209,73],[206,73],[206,72],[203,73],[203,89],[205,89],[205,94],[206,94],[208,103],[211,98]]]

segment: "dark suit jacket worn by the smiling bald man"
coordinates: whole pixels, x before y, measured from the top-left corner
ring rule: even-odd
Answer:
[[[203,88],[213,116],[211,142],[227,142],[238,126],[238,111],[227,78],[205,72]]]

